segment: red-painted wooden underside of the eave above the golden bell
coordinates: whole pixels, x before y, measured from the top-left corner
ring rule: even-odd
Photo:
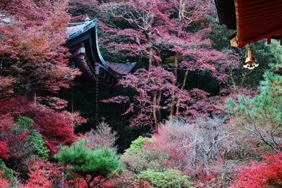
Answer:
[[[237,0],[236,11],[240,47],[281,36],[282,0]]]

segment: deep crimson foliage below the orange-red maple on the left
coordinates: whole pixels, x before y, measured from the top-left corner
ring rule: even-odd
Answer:
[[[8,99],[0,99],[0,114],[2,117],[11,116],[13,118],[19,115],[34,120],[34,127],[38,130],[52,153],[58,151],[59,144],[71,144],[76,137],[74,127],[66,113],[59,113],[47,106],[33,104],[27,101],[25,97],[14,97]],[[71,115],[68,114],[68,115]],[[77,122],[74,120],[74,122]]]

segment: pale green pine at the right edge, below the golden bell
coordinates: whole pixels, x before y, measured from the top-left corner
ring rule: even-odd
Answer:
[[[243,134],[256,137],[274,151],[281,150],[282,136],[282,76],[265,73],[259,94],[252,99],[239,95],[238,101],[227,101],[231,115],[235,115]]]

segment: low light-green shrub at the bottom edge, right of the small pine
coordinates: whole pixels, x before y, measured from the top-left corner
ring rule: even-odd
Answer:
[[[173,187],[185,188],[194,187],[193,183],[189,181],[188,175],[182,175],[180,170],[168,169],[164,172],[157,172],[155,170],[145,170],[137,175],[138,179],[149,180],[152,187]]]

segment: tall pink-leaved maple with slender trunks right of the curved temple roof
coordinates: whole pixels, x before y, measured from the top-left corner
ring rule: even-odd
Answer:
[[[210,102],[207,92],[185,89],[188,73],[227,82],[226,70],[238,66],[238,57],[230,50],[213,49],[206,37],[212,31],[205,17],[213,11],[210,1],[114,1],[97,6],[90,5],[87,13],[102,21],[106,51],[127,58],[142,56],[147,62],[142,64],[147,70],[141,68],[120,82],[137,92],[133,99],[118,96],[106,102],[129,103],[125,114],[134,111],[131,125],[157,127],[166,111],[186,117],[211,113],[193,106]]]

